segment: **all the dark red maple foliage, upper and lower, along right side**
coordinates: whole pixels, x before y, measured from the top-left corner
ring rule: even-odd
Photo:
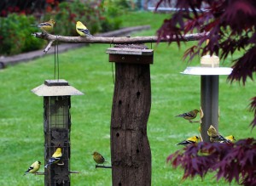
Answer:
[[[245,85],[247,77],[253,79],[256,71],[256,1],[255,0],[159,0],[160,3],[176,3],[177,12],[165,20],[158,31],[160,38],[172,36],[182,38],[183,34],[204,32],[197,45],[184,53],[184,59],[209,52],[226,59],[236,51],[243,54],[233,60],[230,82],[238,81]],[[206,45],[206,41],[209,43]],[[180,45],[181,41],[177,41]],[[256,126],[256,96],[250,108]],[[216,177],[229,183],[256,185],[256,140],[247,138],[236,144],[199,143],[192,144],[167,158],[172,166],[182,166],[183,178],[203,178],[207,172],[217,172]]]

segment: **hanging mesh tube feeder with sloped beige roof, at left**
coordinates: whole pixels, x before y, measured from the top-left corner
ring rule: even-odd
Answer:
[[[70,185],[70,131],[71,95],[83,95],[65,80],[46,80],[32,89],[32,93],[44,96],[44,162],[60,147],[59,164],[44,168],[44,185]]]

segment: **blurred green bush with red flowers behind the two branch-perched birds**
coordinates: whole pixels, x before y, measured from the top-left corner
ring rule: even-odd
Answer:
[[[54,33],[63,36],[78,36],[75,30],[78,20],[87,26],[91,34],[119,29],[122,23],[119,15],[125,10],[119,5],[119,1],[110,0],[62,2],[57,9],[55,15],[46,14],[44,20],[54,17]]]

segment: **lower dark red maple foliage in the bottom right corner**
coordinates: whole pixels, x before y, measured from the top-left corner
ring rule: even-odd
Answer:
[[[216,171],[216,177],[231,183],[256,185],[256,140],[242,139],[236,144],[199,143],[191,144],[167,157],[172,166],[182,166],[183,179],[204,177],[207,172]]]

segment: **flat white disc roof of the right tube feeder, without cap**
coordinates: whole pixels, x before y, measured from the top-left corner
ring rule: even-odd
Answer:
[[[213,75],[230,75],[232,72],[230,67],[202,67],[202,66],[188,66],[182,74],[187,75],[204,75],[204,76],[213,76]]]

